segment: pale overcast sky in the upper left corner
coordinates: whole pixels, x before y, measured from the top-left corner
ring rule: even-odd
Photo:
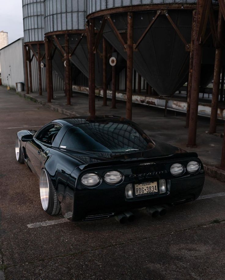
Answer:
[[[24,37],[22,0],[4,0],[0,4],[0,31],[8,32],[10,44]]]

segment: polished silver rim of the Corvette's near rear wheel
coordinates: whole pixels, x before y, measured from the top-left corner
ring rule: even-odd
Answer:
[[[42,208],[46,211],[49,205],[49,181],[45,169],[42,169],[40,176],[40,198]]]

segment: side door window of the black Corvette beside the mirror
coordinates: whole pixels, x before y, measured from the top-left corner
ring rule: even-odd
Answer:
[[[36,135],[35,138],[42,143],[51,145],[60,129],[61,126],[56,124],[47,125]]]

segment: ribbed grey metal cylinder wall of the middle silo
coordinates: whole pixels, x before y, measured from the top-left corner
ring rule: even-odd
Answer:
[[[86,0],[45,0],[45,33],[83,30],[86,23]]]

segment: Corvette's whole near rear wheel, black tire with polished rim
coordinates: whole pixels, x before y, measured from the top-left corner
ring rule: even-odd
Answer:
[[[49,215],[57,215],[60,211],[60,203],[53,184],[45,169],[40,176],[40,197],[42,208]]]

